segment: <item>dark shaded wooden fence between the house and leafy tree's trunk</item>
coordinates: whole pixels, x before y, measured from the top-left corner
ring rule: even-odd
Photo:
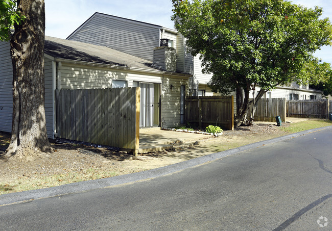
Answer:
[[[199,127],[218,125],[234,129],[233,96],[188,96],[185,98],[185,123]]]

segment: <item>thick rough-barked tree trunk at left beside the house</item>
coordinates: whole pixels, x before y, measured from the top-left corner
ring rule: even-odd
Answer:
[[[51,152],[44,111],[43,0],[17,1],[17,10],[26,16],[15,25],[11,37],[13,64],[13,124],[6,156],[19,157]]]

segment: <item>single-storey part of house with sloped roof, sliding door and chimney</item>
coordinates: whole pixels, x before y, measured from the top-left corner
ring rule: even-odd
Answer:
[[[159,58],[153,66],[149,60],[106,46],[46,36],[45,115],[49,138],[57,136],[56,89],[139,86],[140,127],[161,123],[172,127],[183,123],[184,96],[190,75],[165,70],[176,70],[174,48],[157,47],[155,54]],[[10,45],[0,41],[0,131],[4,132],[11,132],[12,126],[12,81]]]

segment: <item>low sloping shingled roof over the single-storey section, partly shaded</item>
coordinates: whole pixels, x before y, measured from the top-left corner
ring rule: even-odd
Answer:
[[[128,55],[106,46],[45,36],[44,53],[53,58],[108,64],[128,68],[164,71],[152,66],[152,62]]]

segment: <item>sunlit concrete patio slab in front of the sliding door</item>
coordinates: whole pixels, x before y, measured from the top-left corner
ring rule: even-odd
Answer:
[[[145,130],[139,131],[139,153],[162,151],[172,148],[174,144],[196,142],[210,138],[210,135],[195,133],[181,133],[165,130]]]

